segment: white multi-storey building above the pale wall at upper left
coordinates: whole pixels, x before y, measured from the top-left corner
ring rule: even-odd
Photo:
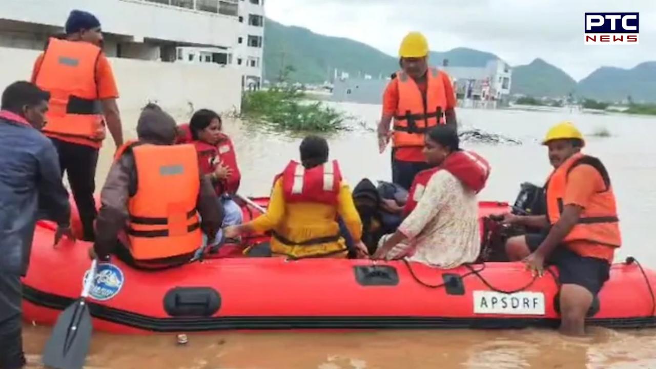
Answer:
[[[263,0],[0,0],[0,47],[43,49],[72,9],[98,16],[110,57],[235,65],[261,84]]]

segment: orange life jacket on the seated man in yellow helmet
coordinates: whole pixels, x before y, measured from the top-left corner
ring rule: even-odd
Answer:
[[[567,175],[577,165],[588,164],[597,169],[604,179],[605,190],[592,196],[588,206],[583,209],[579,223],[565,236],[564,242],[586,240],[619,248],[622,244],[615,194],[604,164],[592,156],[575,154],[565,160],[550,175],[546,184],[546,208],[549,223],[558,222],[563,212],[563,198],[567,187]]]

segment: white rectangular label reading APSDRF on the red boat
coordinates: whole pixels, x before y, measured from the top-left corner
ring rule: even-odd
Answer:
[[[544,293],[474,291],[474,314],[544,315]]]

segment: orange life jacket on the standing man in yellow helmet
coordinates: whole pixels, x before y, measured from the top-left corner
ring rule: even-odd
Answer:
[[[394,147],[424,146],[424,133],[445,124],[447,97],[440,70],[428,68],[426,95],[405,72],[398,72],[399,103],[394,114]]]

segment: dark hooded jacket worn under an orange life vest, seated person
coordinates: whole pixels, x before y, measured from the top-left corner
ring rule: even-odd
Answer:
[[[175,122],[168,114],[161,111],[144,111],[139,118],[138,132],[140,140],[148,144],[171,144],[175,141]],[[137,142],[136,146],[140,143]],[[116,160],[108,174],[100,193],[102,206],[98,212],[96,242],[94,249],[100,259],[107,259],[116,248],[119,238],[123,244],[125,224],[129,217],[128,204],[138,189],[134,153],[131,148],[125,150]],[[210,181],[199,175],[200,188],[196,200],[196,209],[201,217],[200,228],[205,234],[214,236],[221,228],[223,213],[216,206],[218,198]],[[158,261],[161,263],[161,261]]]

